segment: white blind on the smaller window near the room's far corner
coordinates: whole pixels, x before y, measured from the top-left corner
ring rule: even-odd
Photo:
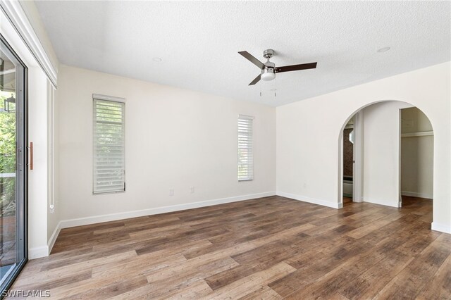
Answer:
[[[249,115],[238,115],[238,181],[254,179],[253,120]]]

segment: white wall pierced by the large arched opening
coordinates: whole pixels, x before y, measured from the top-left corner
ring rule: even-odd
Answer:
[[[369,104],[404,101],[420,108],[433,125],[433,228],[451,232],[450,67],[441,63],[276,108],[278,194],[337,207],[345,123]]]

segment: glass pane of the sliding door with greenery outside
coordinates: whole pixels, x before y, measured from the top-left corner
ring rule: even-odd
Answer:
[[[26,68],[0,35],[0,285],[27,260]]]

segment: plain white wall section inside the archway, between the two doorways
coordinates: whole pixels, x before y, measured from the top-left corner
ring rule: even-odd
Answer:
[[[363,109],[364,202],[398,207],[400,196],[400,101],[373,104]]]

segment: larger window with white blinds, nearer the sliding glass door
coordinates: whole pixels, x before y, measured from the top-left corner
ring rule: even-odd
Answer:
[[[92,95],[94,100],[93,193],[125,191],[125,99]]]

